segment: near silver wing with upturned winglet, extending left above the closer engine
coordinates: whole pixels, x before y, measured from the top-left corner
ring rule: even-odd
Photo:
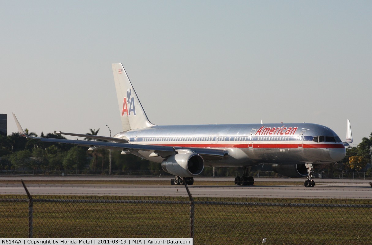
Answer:
[[[122,150],[126,153],[136,152],[138,150],[154,152],[156,155],[161,156],[163,158],[169,157],[177,153],[177,150],[188,149],[192,150],[193,152],[201,155],[202,157],[206,157],[208,159],[213,158],[222,158],[228,155],[227,151],[224,149],[211,149],[211,148],[187,148],[187,147],[173,147],[173,146],[155,146],[155,145],[146,145],[146,144],[129,144],[129,143],[121,143],[121,142],[105,142],[105,141],[86,141],[86,140],[68,140],[68,139],[52,139],[52,138],[42,138],[42,137],[31,137],[25,134],[21,125],[19,124],[16,115],[13,113],[14,120],[16,121],[17,128],[19,134],[23,137],[28,139],[36,139],[41,140],[44,142],[53,142],[53,143],[67,143],[67,144],[77,144],[80,146],[87,146],[91,149],[114,149],[114,150]],[[68,134],[73,136],[81,136],[86,137],[86,134]],[[100,137],[102,139],[103,137]],[[110,138],[110,137],[105,137]],[[116,139],[116,138],[110,138]]]

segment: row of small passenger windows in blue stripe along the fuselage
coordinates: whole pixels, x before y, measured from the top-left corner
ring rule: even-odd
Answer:
[[[251,139],[250,139],[251,138]],[[130,138],[131,141],[135,141],[135,138]],[[209,137],[138,137],[137,141],[263,141],[263,140],[307,140],[315,142],[341,142],[339,137],[329,137],[329,136],[209,136]]]

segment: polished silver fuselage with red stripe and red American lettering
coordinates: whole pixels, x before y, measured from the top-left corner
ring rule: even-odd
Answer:
[[[259,163],[332,163],[342,160],[346,149],[328,127],[318,124],[210,124],[151,126],[114,137],[131,144],[224,149],[228,156],[205,159],[206,166],[253,166]],[[153,162],[151,152],[137,156]]]

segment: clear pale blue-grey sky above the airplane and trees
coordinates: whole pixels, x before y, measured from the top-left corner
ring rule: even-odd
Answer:
[[[312,122],[372,132],[372,1],[0,0],[0,113],[122,131],[111,63],[151,122]]]

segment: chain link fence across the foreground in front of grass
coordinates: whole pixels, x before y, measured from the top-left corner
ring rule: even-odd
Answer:
[[[372,244],[371,200],[0,196],[0,238]]]

